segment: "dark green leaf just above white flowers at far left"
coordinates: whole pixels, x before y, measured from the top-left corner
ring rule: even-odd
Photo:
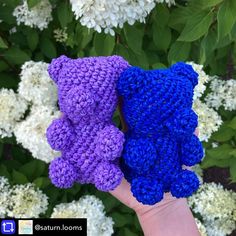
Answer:
[[[30,60],[30,57],[26,52],[16,47],[9,48],[3,55],[11,64],[20,65],[25,61]]]

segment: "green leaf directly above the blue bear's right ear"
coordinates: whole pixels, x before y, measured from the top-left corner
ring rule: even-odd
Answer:
[[[168,53],[169,63],[174,63],[177,61],[187,60],[190,53],[191,44],[187,42],[178,42],[176,41],[171,45],[171,48]]]

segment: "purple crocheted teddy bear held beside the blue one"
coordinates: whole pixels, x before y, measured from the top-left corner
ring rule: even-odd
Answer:
[[[59,188],[75,182],[114,189],[123,173],[119,157],[124,135],[112,123],[116,83],[128,63],[119,56],[53,59],[48,72],[58,87],[62,116],[47,129],[51,147],[61,157],[50,163],[49,176]]]

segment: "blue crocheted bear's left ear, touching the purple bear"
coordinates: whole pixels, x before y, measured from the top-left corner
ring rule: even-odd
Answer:
[[[124,70],[117,83],[117,91],[120,96],[128,96],[135,92],[140,87],[143,81],[144,71],[139,67],[129,67]]]

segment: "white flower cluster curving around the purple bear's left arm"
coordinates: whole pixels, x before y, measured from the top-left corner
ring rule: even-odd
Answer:
[[[60,112],[48,107],[33,107],[26,120],[18,123],[14,133],[18,143],[28,149],[32,156],[45,162],[52,161],[59,152],[51,149],[46,139],[46,130]]]

